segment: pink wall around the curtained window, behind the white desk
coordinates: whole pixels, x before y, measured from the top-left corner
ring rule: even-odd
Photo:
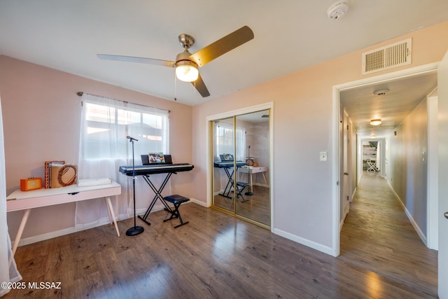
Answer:
[[[170,110],[171,154],[175,162],[192,162],[191,106],[0,56],[7,194],[20,187],[20,179],[43,177],[45,160],[78,162],[78,91]],[[193,195],[192,179],[193,175],[172,176],[172,192]],[[34,209],[23,237],[72,228],[74,211],[75,204]],[[8,213],[12,238],[22,213]]]

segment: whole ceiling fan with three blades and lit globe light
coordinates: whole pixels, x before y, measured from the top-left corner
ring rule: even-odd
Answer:
[[[204,81],[202,81],[199,74],[199,67],[203,67],[205,64],[215,60],[225,53],[228,53],[230,50],[241,46],[243,43],[246,43],[251,39],[253,39],[252,29],[247,26],[243,26],[235,32],[218,39],[218,41],[209,44],[209,46],[206,46],[193,54],[188,52],[188,49],[195,43],[193,36],[188,34],[179,35],[179,43],[181,43],[184,50],[176,56],[176,61],[108,54],[97,54],[97,56],[102,60],[139,62],[156,64],[162,67],[175,67],[176,77],[179,80],[191,82],[202,97],[208,97],[210,92],[207,90],[207,86],[205,86]]]

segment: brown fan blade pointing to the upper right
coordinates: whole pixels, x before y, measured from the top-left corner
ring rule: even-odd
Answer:
[[[193,53],[190,55],[190,59],[194,60],[200,67],[203,67],[205,64],[211,62],[211,60],[228,53],[230,50],[241,46],[243,43],[246,43],[251,39],[253,39],[252,29],[247,26],[243,26],[235,32],[232,32],[231,34],[224,36],[222,39],[218,39],[218,41],[215,41],[214,43],[209,44],[209,46]]]

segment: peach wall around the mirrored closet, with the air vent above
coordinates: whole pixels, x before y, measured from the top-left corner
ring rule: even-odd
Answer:
[[[448,22],[421,29],[334,60],[241,90],[233,95],[193,107],[194,197],[207,201],[207,116],[274,102],[274,232],[304,244],[332,247],[332,87],[357,81],[361,53],[412,37],[412,65],[438,62],[448,50]],[[400,67],[399,71],[409,67]],[[391,71],[389,71],[391,72]],[[372,74],[378,76],[383,73]],[[220,104],[221,102],[221,104]],[[225,104],[222,104],[225,103]],[[319,162],[319,152],[328,162]]]

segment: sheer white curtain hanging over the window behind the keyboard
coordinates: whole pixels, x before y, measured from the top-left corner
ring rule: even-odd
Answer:
[[[134,164],[141,165],[141,155],[169,153],[169,111],[128,102],[83,94],[80,126],[78,179],[109,178],[121,185],[121,195],[112,200],[118,219],[134,214],[132,176],[121,174],[118,169],[132,165],[134,137]],[[160,186],[163,176],[151,176]],[[169,183],[163,196],[171,193]],[[135,198],[137,214],[144,213],[153,200],[154,193],[146,181],[137,176]],[[153,211],[162,209],[160,202]],[[76,228],[91,228],[109,222],[104,200],[76,203]]]

